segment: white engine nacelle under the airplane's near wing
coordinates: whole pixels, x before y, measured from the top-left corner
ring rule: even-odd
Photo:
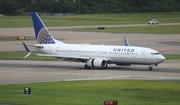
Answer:
[[[88,67],[100,67],[100,68],[106,68],[107,62],[103,58],[94,58],[89,59],[86,63]]]

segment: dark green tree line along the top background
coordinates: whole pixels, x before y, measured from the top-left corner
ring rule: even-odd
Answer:
[[[178,12],[180,0],[0,0],[0,14]]]

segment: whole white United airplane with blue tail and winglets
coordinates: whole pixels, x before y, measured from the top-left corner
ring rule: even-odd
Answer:
[[[28,57],[31,51],[27,46],[35,47],[41,52],[37,56],[50,56],[59,61],[82,62],[84,68],[105,69],[110,64],[119,66],[149,65],[148,70],[165,61],[165,57],[158,51],[139,46],[130,46],[124,37],[124,46],[116,45],[91,45],[91,44],[68,44],[53,38],[36,12],[32,12],[32,21],[37,44],[23,45]]]

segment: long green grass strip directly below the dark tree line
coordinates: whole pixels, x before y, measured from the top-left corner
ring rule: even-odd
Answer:
[[[122,14],[81,14],[72,16],[40,16],[46,26],[84,26],[114,24],[147,24],[151,19],[160,23],[180,22],[180,12],[171,13],[122,13]],[[31,16],[0,17],[0,28],[32,27]]]

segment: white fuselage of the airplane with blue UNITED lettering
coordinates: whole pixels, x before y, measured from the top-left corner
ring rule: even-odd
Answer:
[[[39,45],[39,44],[38,44]],[[67,57],[104,58],[108,63],[126,64],[158,64],[165,60],[156,50],[136,46],[108,46],[90,44],[40,44],[43,48],[36,48],[46,54]]]

